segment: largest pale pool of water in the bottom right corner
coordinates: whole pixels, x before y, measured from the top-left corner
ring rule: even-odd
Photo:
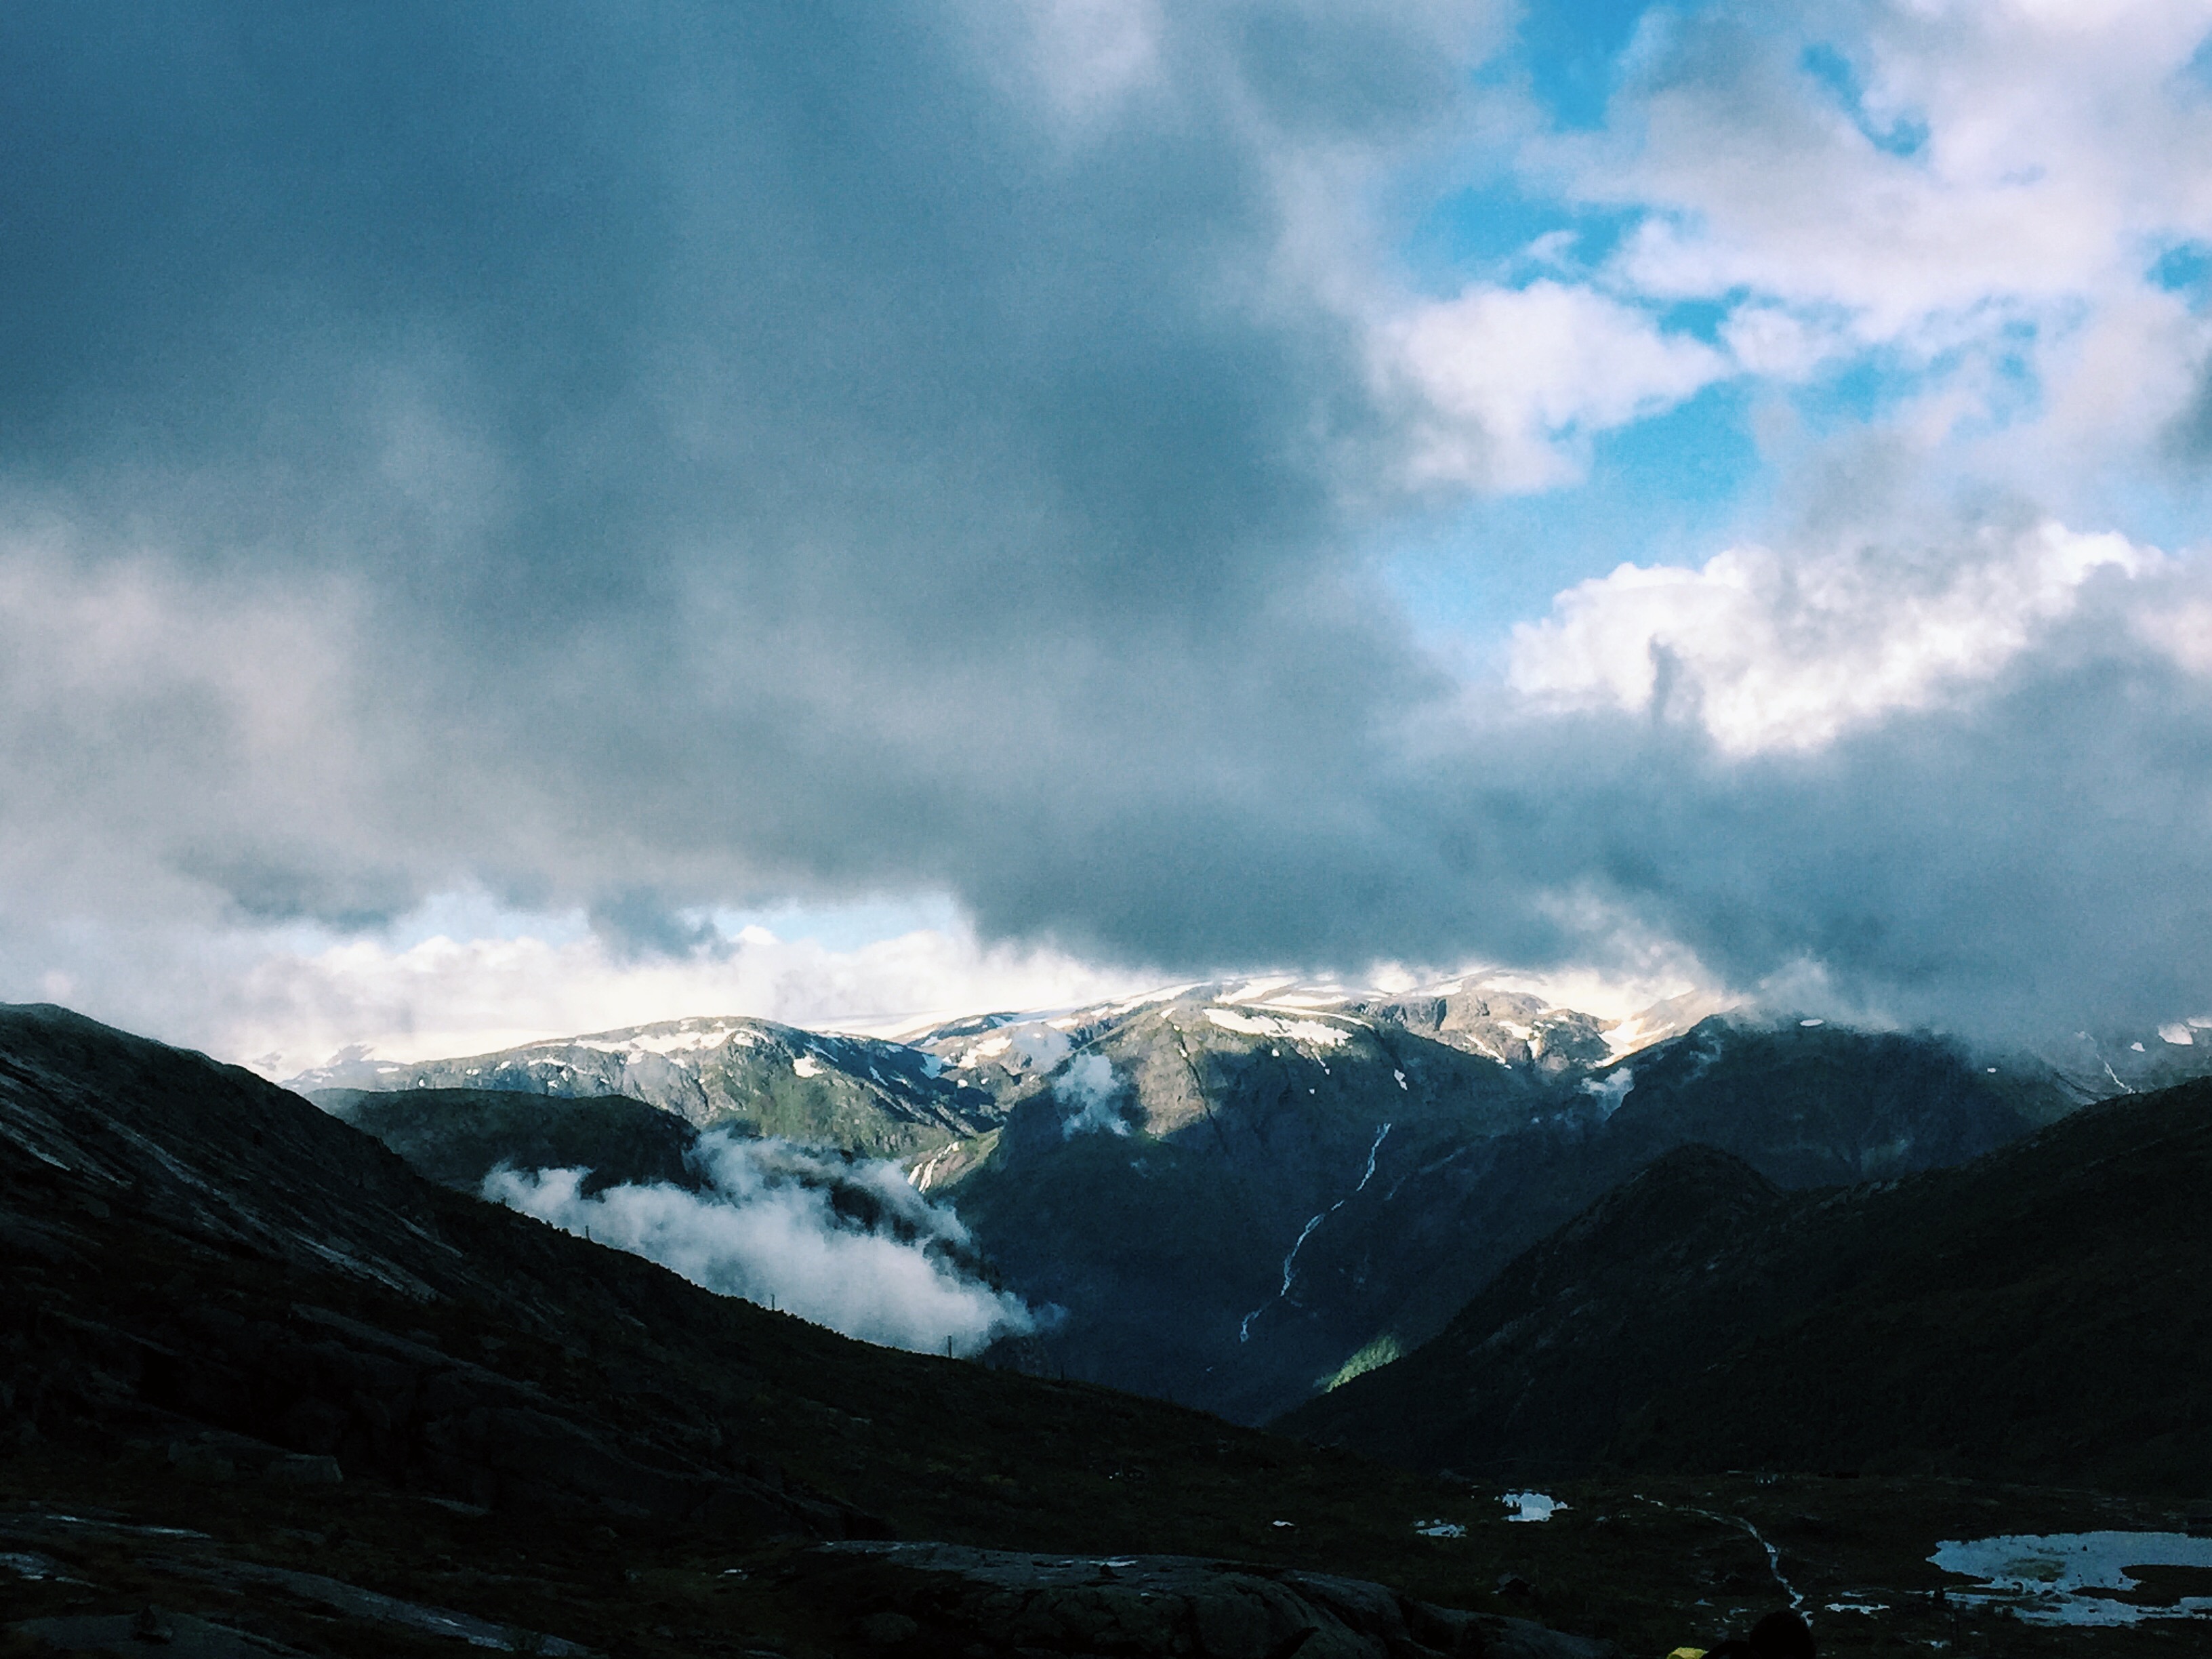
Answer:
[[[1953,1590],[1953,1601],[2006,1608],[2028,1624],[2212,1619],[2212,1537],[2008,1533],[1944,1542],[1929,1559],[1980,1579]]]

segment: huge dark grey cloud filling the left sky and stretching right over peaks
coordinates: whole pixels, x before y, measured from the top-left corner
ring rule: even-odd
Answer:
[[[1159,964],[2212,982],[2146,902],[2212,726],[2128,653],[1794,761],[1462,710],[1354,557],[1396,436],[1312,265],[1475,20],[1062,13],[1135,22],[0,15],[18,916],[476,883],[650,953],[940,887]]]

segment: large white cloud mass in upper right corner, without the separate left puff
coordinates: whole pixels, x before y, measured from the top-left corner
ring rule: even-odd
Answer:
[[[1632,215],[1615,292],[1728,305],[1756,374],[1863,354],[1900,431],[2075,511],[2212,347],[2154,274],[2212,237],[2208,29],[2201,0],[1659,9],[1606,131],[1522,164]]]

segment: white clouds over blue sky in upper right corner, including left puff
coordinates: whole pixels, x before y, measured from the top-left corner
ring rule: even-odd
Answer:
[[[1509,146],[1533,197],[1621,215],[1613,252],[1367,294],[1407,473],[1559,489],[1593,434],[1705,385],[1856,367],[1949,482],[2101,518],[2106,476],[2154,469],[2212,356],[2159,263],[2212,241],[2208,29],[2201,0],[1650,9],[1604,128],[1531,108]],[[1710,345],[1657,323],[1683,301],[1717,307]]]

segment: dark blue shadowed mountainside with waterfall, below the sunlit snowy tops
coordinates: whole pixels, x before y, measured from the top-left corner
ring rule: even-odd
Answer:
[[[1593,1075],[1544,1086],[1500,1068],[1469,1082],[1467,1106],[1442,1095],[1427,1108],[1385,1062],[1354,1071],[1347,1044],[1336,1077],[1314,1079],[1334,1183],[1292,1186],[1279,1148],[1305,1144],[1316,1102],[1270,1088],[1270,1066],[1210,1037],[1190,1053],[1203,1117],[1150,1119],[1146,1139],[1110,1146],[1009,1126],[958,1194],[1015,1285],[1108,1310],[1060,1338],[1086,1376],[1239,1418],[1411,1352],[1515,1254],[1670,1148],[1717,1146],[1809,1188],[1958,1164],[2031,1128],[2022,1084],[1931,1035],[1714,1018]],[[1347,1091],[1334,1104],[1332,1082]],[[1394,1115],[1394,1099],[1409,1106]],[[1383,1121],[1363,1181],[1371,1135],[1358,1130]]]

